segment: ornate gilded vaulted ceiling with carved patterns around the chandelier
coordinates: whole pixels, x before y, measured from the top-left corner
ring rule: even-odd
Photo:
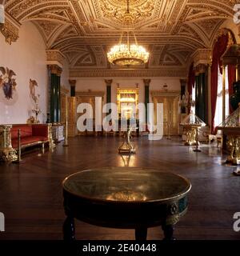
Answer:
[[[235,0],[130,0],[138,42],[150,51],[139,74],[186,74],[190,56],[209,49],[219,26],[233,18]],[[7,18],[34,22],[46,50],[59,50],[72,76],[124,73],[106,60],[118,43],[126,0],[6,0]],[[175,73],[174,73],[175,70]],[[113,73],[114,72],[114,73]]]

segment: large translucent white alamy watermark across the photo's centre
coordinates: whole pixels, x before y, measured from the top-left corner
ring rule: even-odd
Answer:
[[[95,108],[90,103],[81,103],[77,107],[79,114],[77,120],[78,131],[127,131],[139,129],[150,132],[149,140],[160,140],[163,136],[163,104],[148,103],[121,103],[121,113],[115,103],[102,104],[102,98],[95,98]],[[147,118],[146,118],[147,113]],[[139,121],[137,127],[137,119]],[[147,119],[147,120],[146,120]],[[129,122],[129,123],[128,123]],[[119,124],[121,123],[121,126]]]

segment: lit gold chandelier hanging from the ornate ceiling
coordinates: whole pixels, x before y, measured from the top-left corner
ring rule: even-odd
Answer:
[[[110,52],[107,53],[108,61],[118,66],[135,66],[142,65],[148,62],[149,53],[143,46],[138,46],[138,41],[134,30],[134,44],[130,44],[130,28],[134,22],[134,17],[130,14],[129,0],[127,0],[127,9],[124,14],[123,23],[127,26],[127,30],[122,32],[118,45],[113,46]],[[122,38],[126,34],[126,43],[122,43]]]

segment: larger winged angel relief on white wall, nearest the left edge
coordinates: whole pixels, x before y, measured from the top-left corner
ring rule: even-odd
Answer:
[[[2,72],[0,75],[0,87],[2,87],[5,98],[10,100],[10,98],[13,98],[13,92],[17,86],[16,80],[13,78],[16,74],[13,70],[3,66],[0,66],[0,71]]]

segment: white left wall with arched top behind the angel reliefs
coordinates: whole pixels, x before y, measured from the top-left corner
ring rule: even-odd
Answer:
[[[14,70],[16,92],[7,100],[0,88],[0,123],[26,123],[34,107],[30,100],[30,78],[38,82],[39,106],[42,114],[39,120],[46,121],[47,68],[46,47],[35,26],[27,22],[21,26],[17,42],[10,46],[0,34],[0,66]]]

